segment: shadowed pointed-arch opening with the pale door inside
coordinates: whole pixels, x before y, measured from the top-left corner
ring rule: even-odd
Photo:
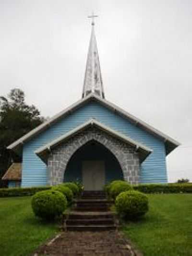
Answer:
[[[95,140],[81,146],[70,158],[64,181],[79,180],[85,190],[100,190],[112,180],[123,180],[117,158],[109,149]]]

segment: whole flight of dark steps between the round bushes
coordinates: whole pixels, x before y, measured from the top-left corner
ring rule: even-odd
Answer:
[[[114,216],[109,211],[111,201],[103,191],[84,191],[81,198],[74,200],[75,208],[63,216],[68,231],[115,230]],[[63,226],[65,227],[65,225]]]

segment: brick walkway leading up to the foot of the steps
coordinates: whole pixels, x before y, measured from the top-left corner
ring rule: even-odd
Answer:
[[[117,231],[63,232],[36,254],[46,256],[136,256]],[[137,254],[138,255],[138,254]]]

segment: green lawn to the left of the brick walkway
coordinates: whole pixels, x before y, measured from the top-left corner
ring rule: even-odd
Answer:
[[[0,256],[30,255],[57,226],[34,217],[29,196],[0,198]]]

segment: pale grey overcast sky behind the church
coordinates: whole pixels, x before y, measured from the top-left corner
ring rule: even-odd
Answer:
[[[81,98],[93,10],[106,98],[178,140],[169,182],[192,181],[192,0],[0,0],[0,95],[45,117]]]

